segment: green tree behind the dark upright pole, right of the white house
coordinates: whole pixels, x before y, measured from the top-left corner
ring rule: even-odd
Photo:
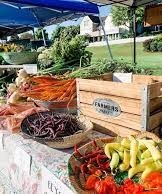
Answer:
[[[112,10],[112,22],[115,26],[130,26],[132,21],[132,14],[129,8],[122,6],[113,6]],[[144,9],[142,7],[136,9],[136,21],[138,24],[143,23]]]

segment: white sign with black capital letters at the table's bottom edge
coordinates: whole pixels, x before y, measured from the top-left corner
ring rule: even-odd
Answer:
[[[42,194],[73,194],[73,192],[42,166]]]

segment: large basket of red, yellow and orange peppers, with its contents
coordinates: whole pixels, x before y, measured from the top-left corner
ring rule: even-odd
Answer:
[[[160,141],[130,136],[105,142],[75,147],[70,159],[69,164],[76,165],[71,166],[70,176],[79,180],[77,184],[85,193],[162,194]]]

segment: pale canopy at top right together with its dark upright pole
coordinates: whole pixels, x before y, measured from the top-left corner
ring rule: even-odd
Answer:
[[[88,2],[97,4],[98,6],[104,5],[116,5],[130,7],[133,14],[133,37],[134,37],[134,52],[133,62],[136,63],[136,15],[135,11],[137,7],[154,5],[162,2],[162,0],[86,0]],[[109,48],[110,56],[112,56],[111,49]],[[113,59],[113,57],[111,57]]]

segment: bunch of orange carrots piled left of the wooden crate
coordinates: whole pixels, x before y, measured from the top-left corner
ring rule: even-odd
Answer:
[[[76,97],[76,80],[58,80],[50,76],[31,78],[31,87],[22,89],[21,95],[43,101],[66,101]]]

